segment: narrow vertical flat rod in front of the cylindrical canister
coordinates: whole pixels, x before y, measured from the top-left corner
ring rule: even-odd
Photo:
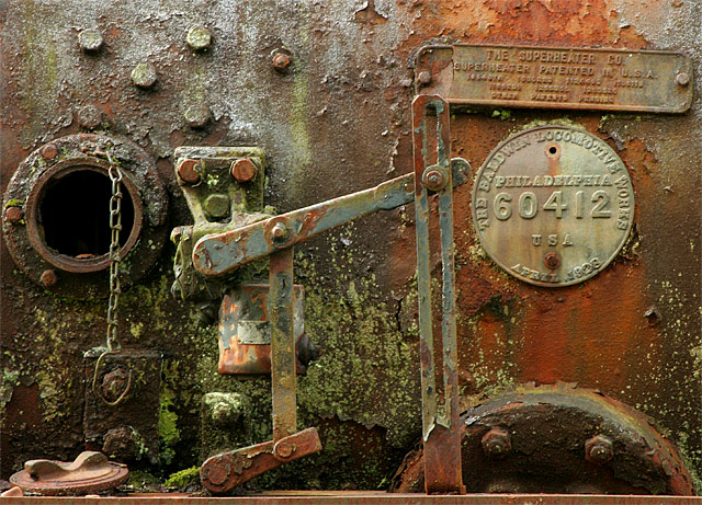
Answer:
[[[273,441],[278,441],[297,433],[292,246],[271,254],[268,305],[271,322]]]

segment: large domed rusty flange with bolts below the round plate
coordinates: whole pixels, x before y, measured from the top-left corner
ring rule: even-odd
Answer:
[[[599,392],[526,386],[461,418],[468,492],[695,494],[682,459],[650,420]],[[406,460],[398,492],[421,489],[424,458]]]

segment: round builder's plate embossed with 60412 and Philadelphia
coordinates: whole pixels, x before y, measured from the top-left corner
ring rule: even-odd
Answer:
[[[473,222],[487,254],[536,286],[570,286],[600,273],[626,241],[634,190],[598,137],[548,125],[502,141],[473,186]]]

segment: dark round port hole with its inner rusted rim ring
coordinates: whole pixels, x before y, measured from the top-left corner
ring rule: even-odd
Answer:
[[[54,169],[37,181],[27,200],[32,244],[46,261],[69,272],[109,267],[112,181],[106,168],[81,164]],[[124,175],[121,193],[120,251],[124,257],[139,234],[141,206],[136,187]]]

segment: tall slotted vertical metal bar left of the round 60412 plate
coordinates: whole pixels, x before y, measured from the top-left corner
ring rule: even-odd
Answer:
[[[430,152],[428,112],[437,116],[437,149]],[[453,184],[449,104],[438,95],[419,95],[412,102],[415,159],[415,209],[417,228],[417,282],[421,356],[422,434],[424,487],[427,493],[465,493],[461,471],[461,423],[458,420],[455,279],[453,262]],[[431,248],[429,242],[429,191],[439,198],[441,230],[443,403],[437,391],[433,317],[431,310]]]

